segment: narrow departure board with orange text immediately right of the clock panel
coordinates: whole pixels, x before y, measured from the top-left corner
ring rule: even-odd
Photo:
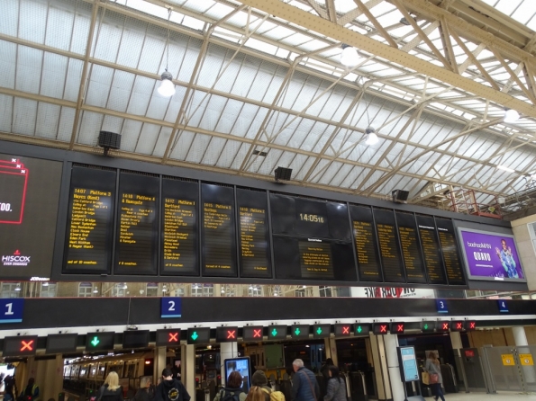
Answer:
[[[372,218],[372,209],[366,206],[352,205],[350,206],[350,217],[358,257],[359,280],[384,281],[377,253],[376,229]]]

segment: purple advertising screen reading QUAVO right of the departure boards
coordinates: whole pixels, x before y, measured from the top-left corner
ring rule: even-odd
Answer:
[[[513,236],[459,227],[471,280],[526,281]]]

